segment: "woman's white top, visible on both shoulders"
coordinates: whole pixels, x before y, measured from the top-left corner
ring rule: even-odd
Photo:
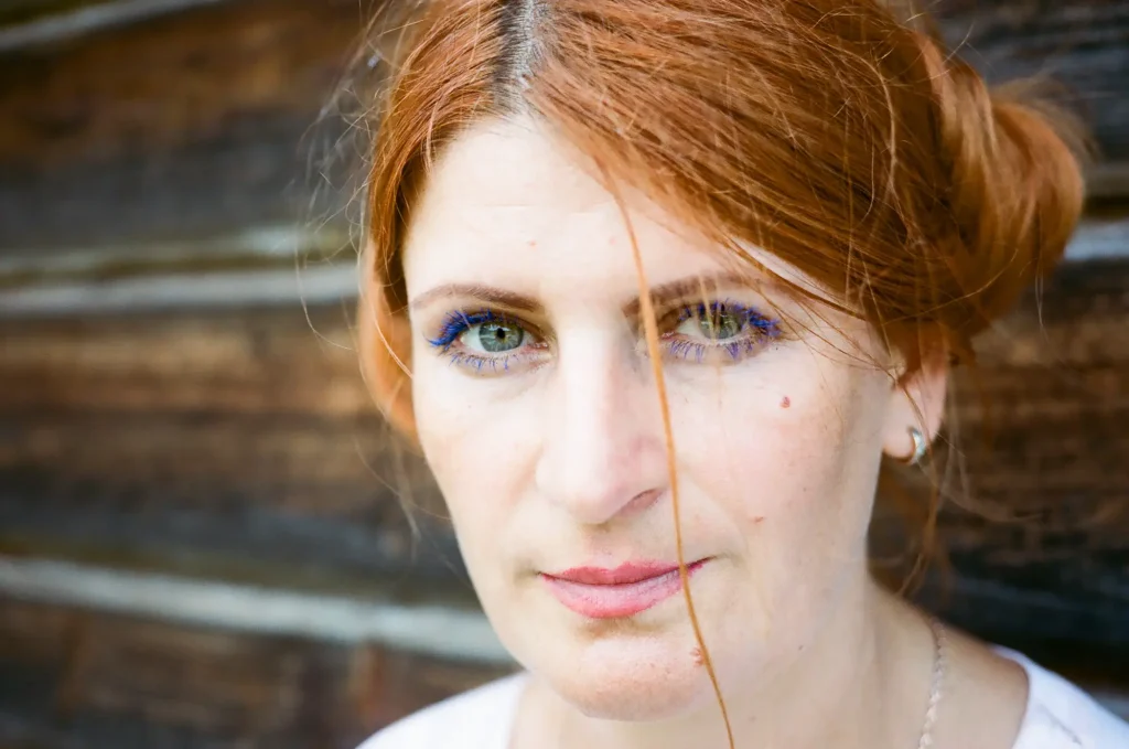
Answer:
[[[1013,749],[1129,749],[1129,723],[1062,677],[997,648],[1027,672],[1027,708]],[[456,695],[400,720],[359,749],[509,749],[525,673]]]

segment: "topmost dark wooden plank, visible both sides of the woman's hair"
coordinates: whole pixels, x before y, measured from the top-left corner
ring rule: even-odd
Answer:
[[[930,8],[990,78],[1062,79],[1103,150],[1094,190],[1129,194],[1129,3]],[[340,120],[313,125],[360,33],[350,0],[228,0],[0,54],[0,251],[333,215],[362,158],[340,141]]]

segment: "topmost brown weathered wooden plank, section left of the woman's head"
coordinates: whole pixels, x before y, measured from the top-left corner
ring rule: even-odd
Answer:
[[[0,247],[301,221],[360,32],[356,1],[239,0],[0,55]]]

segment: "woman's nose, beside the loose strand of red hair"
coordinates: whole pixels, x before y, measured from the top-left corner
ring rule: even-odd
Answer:
[[[645,365],[599,336],[561,341],[535,481],[579,523],[640,512],[667,486],[658,395]]]

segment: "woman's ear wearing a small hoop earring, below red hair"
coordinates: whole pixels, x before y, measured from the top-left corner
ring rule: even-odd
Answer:
[[[890,408],[883,427],[883,452],[891,458],[909,461],[913,455],[910,427],[921,432],[933,444],[945,416],[948,390],[948,362],[944,352],[925,358],[920,368],[899,377],[892,385]]]

